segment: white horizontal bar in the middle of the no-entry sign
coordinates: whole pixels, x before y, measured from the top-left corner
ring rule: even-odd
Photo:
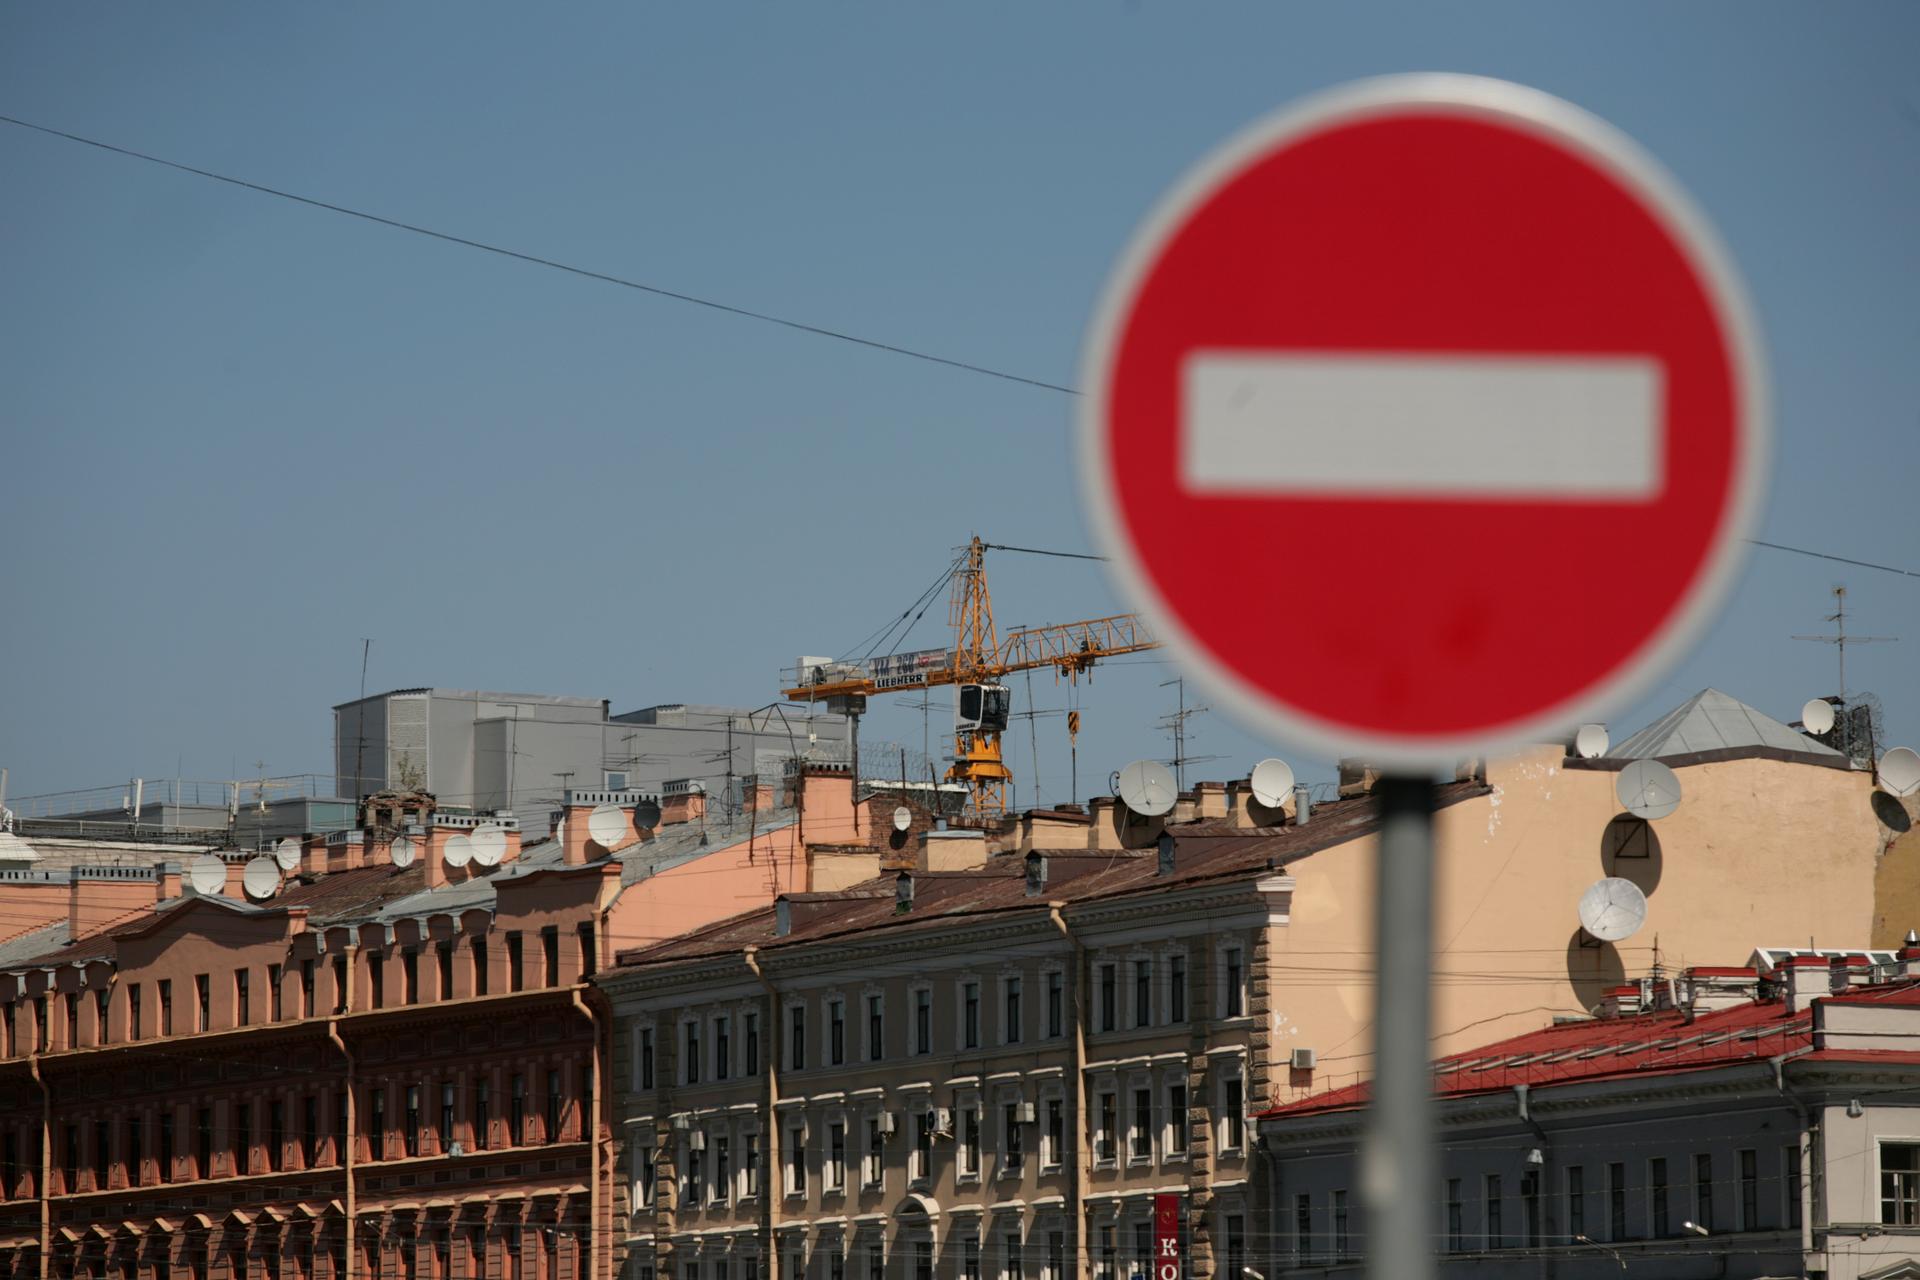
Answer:
[[[1651,357],[1194,351],[1190,491],[1651,499],[1665,384]]]

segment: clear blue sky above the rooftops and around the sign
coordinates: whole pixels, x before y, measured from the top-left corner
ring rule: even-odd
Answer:
[[[1920,570],[1914,48],[1912,4],[23,4],[0,113],[1071,382],[1114,255],[1215,142],[1361,75],[1509,77],[1636,136],[1741,265],[1776,388],[1761,535]],[[1066,395],[13,127],[0,175],[15,796],[324,771],[367,635],[374,689],[753,706],[973,532],[1089,547]],[[1311,568],[1315,612],[1367,589],[1334,547]],[[1002,626],[1123,608],[1083,562],[991,572]],[[1920,578],[1774,551],[1615,722],[1709,683],[1791,720],[1834,685],[1832,649],[1789,635],[1836,581],[1859,631],[1905,637],[1849,683],[1920,741]],[[1083,794],[1167,754],[1173,674],[1083,691]],[[908,700],[866,737],[918,747]],[[1192,722],[1221,756],[1200,775],[1271,750],[1225,710]],[[1066,798],[1062,720],[1035,731],[1039,798]]]

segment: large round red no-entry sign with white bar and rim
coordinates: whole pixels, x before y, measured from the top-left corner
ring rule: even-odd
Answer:
[[[1759,334],[1628,138],[1394,77],[1210,155],[1089,330],[1083,480],[1123,589],[1265,727],[1436,764],[1599,718],[1741,562]]]

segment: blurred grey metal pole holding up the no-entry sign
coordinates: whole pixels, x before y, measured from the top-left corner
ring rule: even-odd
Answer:
[[[1430,1280],[1434,1150],[1430,1044],[1434,783],[1379,783],[1375,877],[1373,1105],[1361,1165],[1367,1274]]]

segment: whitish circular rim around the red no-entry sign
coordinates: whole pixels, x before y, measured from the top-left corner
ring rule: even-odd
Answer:
[[[1613,676],[1530,716],[1490,725],[1484,733],[1423,737],[1361,731],[1308,714],[1248,685],[1206,652],[1146,574],[1139,570],[1133,541],[1125,533],[1108,484],[1106,388],[1119,338],[1117,324],[1167,236],[1179,230],[1223,182],[1267,152],[1329,125],[1392,115],[1407,107],[1480,117],[1526,130],[1578,154],[1596,169],[1611,175],[1638,196],[1653,217],[1665,223],[1682,251],[1690,255],[1715,315],[1726,328],[1734,363],[1740,457],[1734,459],[1726,514],[1713,533],[1707,564],[1695,576],[1686,599]],[[1559,741],[1565,737],[1567,725],[1605,720],[1609,712],[1619,712],[1645,693],[1699,639],[1732,591],[1745,564],[1745,539],[1751,537],[1761,516],[1772,453],[1766,359],[1759,322],[1734,271],[1734,261],[1705,215],[1693,207],[1693,201],[1657,159],[1613,125],[1536,88],[1476,75],[1421,73],[1357,81],[1283,107],[1215,148],[1160,198],[1116,261],[1087,326],[1079,384],[1083,391],[1079,409],[1081,493],[1094,541],[1106,553],[1108,572],[1114,576],[1121,599],[1148,616],[1154,631],[1173,651],[1183,670],[1198,677],[1213,697],[1227,702],[1229,710],[1242,722],[1323,756],[1357,754],[1379,764],[1411,770],[1450,768],[1461,756],[1523,743]],[[1302,674],[1302,679],[1311,679],[1311,674]]]

